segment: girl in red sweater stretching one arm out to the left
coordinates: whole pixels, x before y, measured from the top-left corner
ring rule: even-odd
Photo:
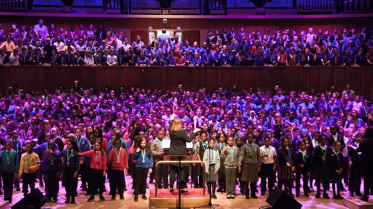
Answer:
[[[78,153],[79,156],[88,156],[91,157],[90,160],[90,183],[91,185],[88,187],[89,193],[91,197],[87,200],[87,202],[91,202],[94,200],[94,191],[98,189],[98,193],[100,194],[100,200],[105,201],[104,196],[102,195],[103,191],[103,184],[102,178],[106,176],[106,155],[104,152],[104,148],[102,146],[101,141],[96,141],[94,143],[94,149],[90,151],[86,151],[83,153]]]

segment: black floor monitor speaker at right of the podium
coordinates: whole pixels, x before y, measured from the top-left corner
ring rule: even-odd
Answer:
[[[270,196],[267,197],[266,202],[272,206],[272,208],[277,209],[300,209],[302,208],[301,203],[292,198],[288,193],[280,189],[273,189]]]

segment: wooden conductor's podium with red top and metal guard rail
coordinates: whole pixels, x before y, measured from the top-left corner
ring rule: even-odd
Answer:
[[[159,161],[155,165],[155,189],[150,189],[149,206],[155,208],[194,208],[201,205],[209,204],[209,195],[206,196],[206,187],[200,189],[189,188],[188,192],[182,193],[179,196],[179,192],[175,189],[174,192],[170,192],[169,189],[158,189],[157,188],[157,167],[160,164],[171,164],[171,163],[200,163],[205,168],[202,161],[196,160],[195,156],[185,155],[166,155],[163,161]],[[205,182],[205,175],[203,175],[203,182]]]

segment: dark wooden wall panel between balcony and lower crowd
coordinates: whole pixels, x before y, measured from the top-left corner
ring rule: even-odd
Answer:
[[[338,92],[351,84],[358,95],[372,94],[373,67],[44,67],[0,66],[0,93],[10,86],[19,85],[25,92],[54,91],[62,84],[65,91],[78,79],[83,88],[106,86],[117,91],[126,88],[160,89],[175,91],[178,84],[185,90],[198,91],[202,87],[211,93],[222,83],[227,90],[236,85],[238,91],[262,88],[272,91],[279,85],[290,90],[310,92],[330,91],[335,85]]]

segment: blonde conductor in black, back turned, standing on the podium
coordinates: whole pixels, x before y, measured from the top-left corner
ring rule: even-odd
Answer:
[[[169,155],[187,155],[186,151],[186,142],[191,142],[195,136],[197,136],[197,132],[201,131],[201,129],[196,128],[194,129],[193,133],[191,135],[187,135],[186,132],[182,129],[181,120],[179,118],[175,118],[174,120],[170,120],[170,125],[168,128],[168,132],[170,134],[170,150]],[[182,164],[181,167],[179,167],[179,164],[170,164],[170,192],[173,192],[173,183],[175,183],[176,178],[176,172],[180,171],[180,187],[181,192],[185,193],[188,192],[188,190],[185,188],[185,173],[184,173],[184,166],[185,164]]]

